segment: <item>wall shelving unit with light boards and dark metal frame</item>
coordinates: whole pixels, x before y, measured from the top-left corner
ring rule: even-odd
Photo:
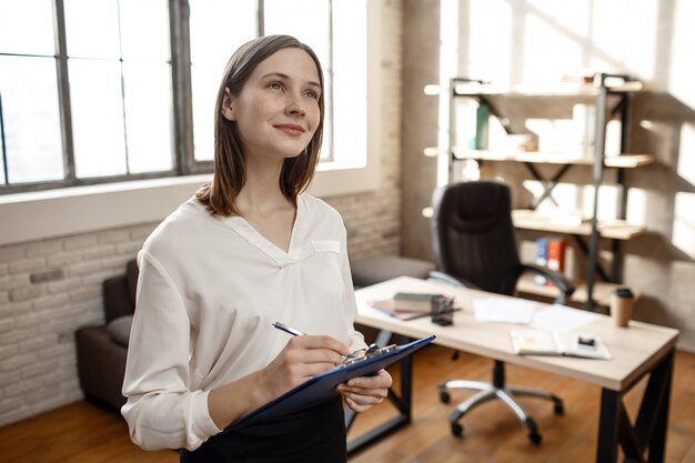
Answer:
[[[442,152],[436,148],[425,149],[425,155],[447,155],[450,165],[450,181],[453,180],[453,165],[461,160],[491,161],[491,162],[517,162],[526,165],[533,179],[541,182],[544,191],[528,210],[513,212],[514,224],[518,229],[547,231],[571,235],[578,248],[587,258],[587,273],[583,282],[577,286],[573,302],[584,301],[586,309],[593,310],[594,305],[606,305],[607,295],[620,285],[620,242],[633,239],[645,231],[644,227],[629,224],[625,221],[626,192],[623,189],[623,199],[618,205],[617,219],[613,221],[598,221],[598,187],[603,183],[604,169],[617,169],[617,183],[624,187],[624,170],[648,165],[654,162],[649,154],[621,153],[614,157],[605,155],[605,132],[610,119],[617,117],[622,121],[621,151],[626,141],[626,128],[628,125],[628,104],[631,95],[636,92],[648,91],[642,82],[631,80],[625,76],[598,74],[591,84],[562,83],[552,88],[514,87],[500,88],[480,81],[455,78],[450,82],[450,123],[449,145]],[[503,121],[495,107],[491,103],[492,97],[523,97],[523,98],[576,98],[577,101],[588,102],[596,107],[595,150],[593,157],[567,155],[557,152],[538,151],[490,151],[472,150],[457,147],[456,133],[456,101],[469,98],[477,101],[479,105],[485,105],[492,117]],[[608,104],[608,100],[617,102]],[[502,123],[503,127],[506,125]],[[558,170],[552,178],[545,178],[536,168],[537,164],[555,164]],[[588,221],[566,223],[556,221],[552,217],[542,217],[534,213],[535,208],[546,198],[551,198],[553,189],[563,175],[574,165],[585,165],[592,169],[592,187],[594,188],[594,203]],[[604,270],[597,260],[598,240],[610,240],[613,252],[611,272]],[[588,242],[586,242],[586,241]],[[596,276],[600,276],[598,280]],[[547,288],[520,283],[523,292],[547,295]],[[552,289],[550,289],[552,291]]]

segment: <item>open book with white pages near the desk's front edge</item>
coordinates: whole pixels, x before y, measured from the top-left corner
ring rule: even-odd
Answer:
[[[512,330],[512,350],[518,355],[566,355],[611,360],[612,355],[600,336],[548,330]]]

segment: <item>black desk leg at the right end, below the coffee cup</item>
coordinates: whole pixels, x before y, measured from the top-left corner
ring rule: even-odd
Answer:
[[[634,426],[623,404],[625,392],[601,391],[596,462],[615,463],[620,444],[625,462],[645,462],[644,454],[648,451],[648,463],[663,463],[673,362],[674,351],[671,351],[652,369]]]

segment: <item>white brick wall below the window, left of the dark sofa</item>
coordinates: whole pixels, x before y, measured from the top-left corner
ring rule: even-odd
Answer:
[[[82,397],[74,330],[154,224],[0,248],[0,425]]]

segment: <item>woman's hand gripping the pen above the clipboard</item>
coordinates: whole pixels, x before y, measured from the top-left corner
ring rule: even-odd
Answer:
[[[333,370],[348,353],[348,348],[331,336],[293,336],[259,372],[260,386],[268,391],[271,401],[312,376]]]

